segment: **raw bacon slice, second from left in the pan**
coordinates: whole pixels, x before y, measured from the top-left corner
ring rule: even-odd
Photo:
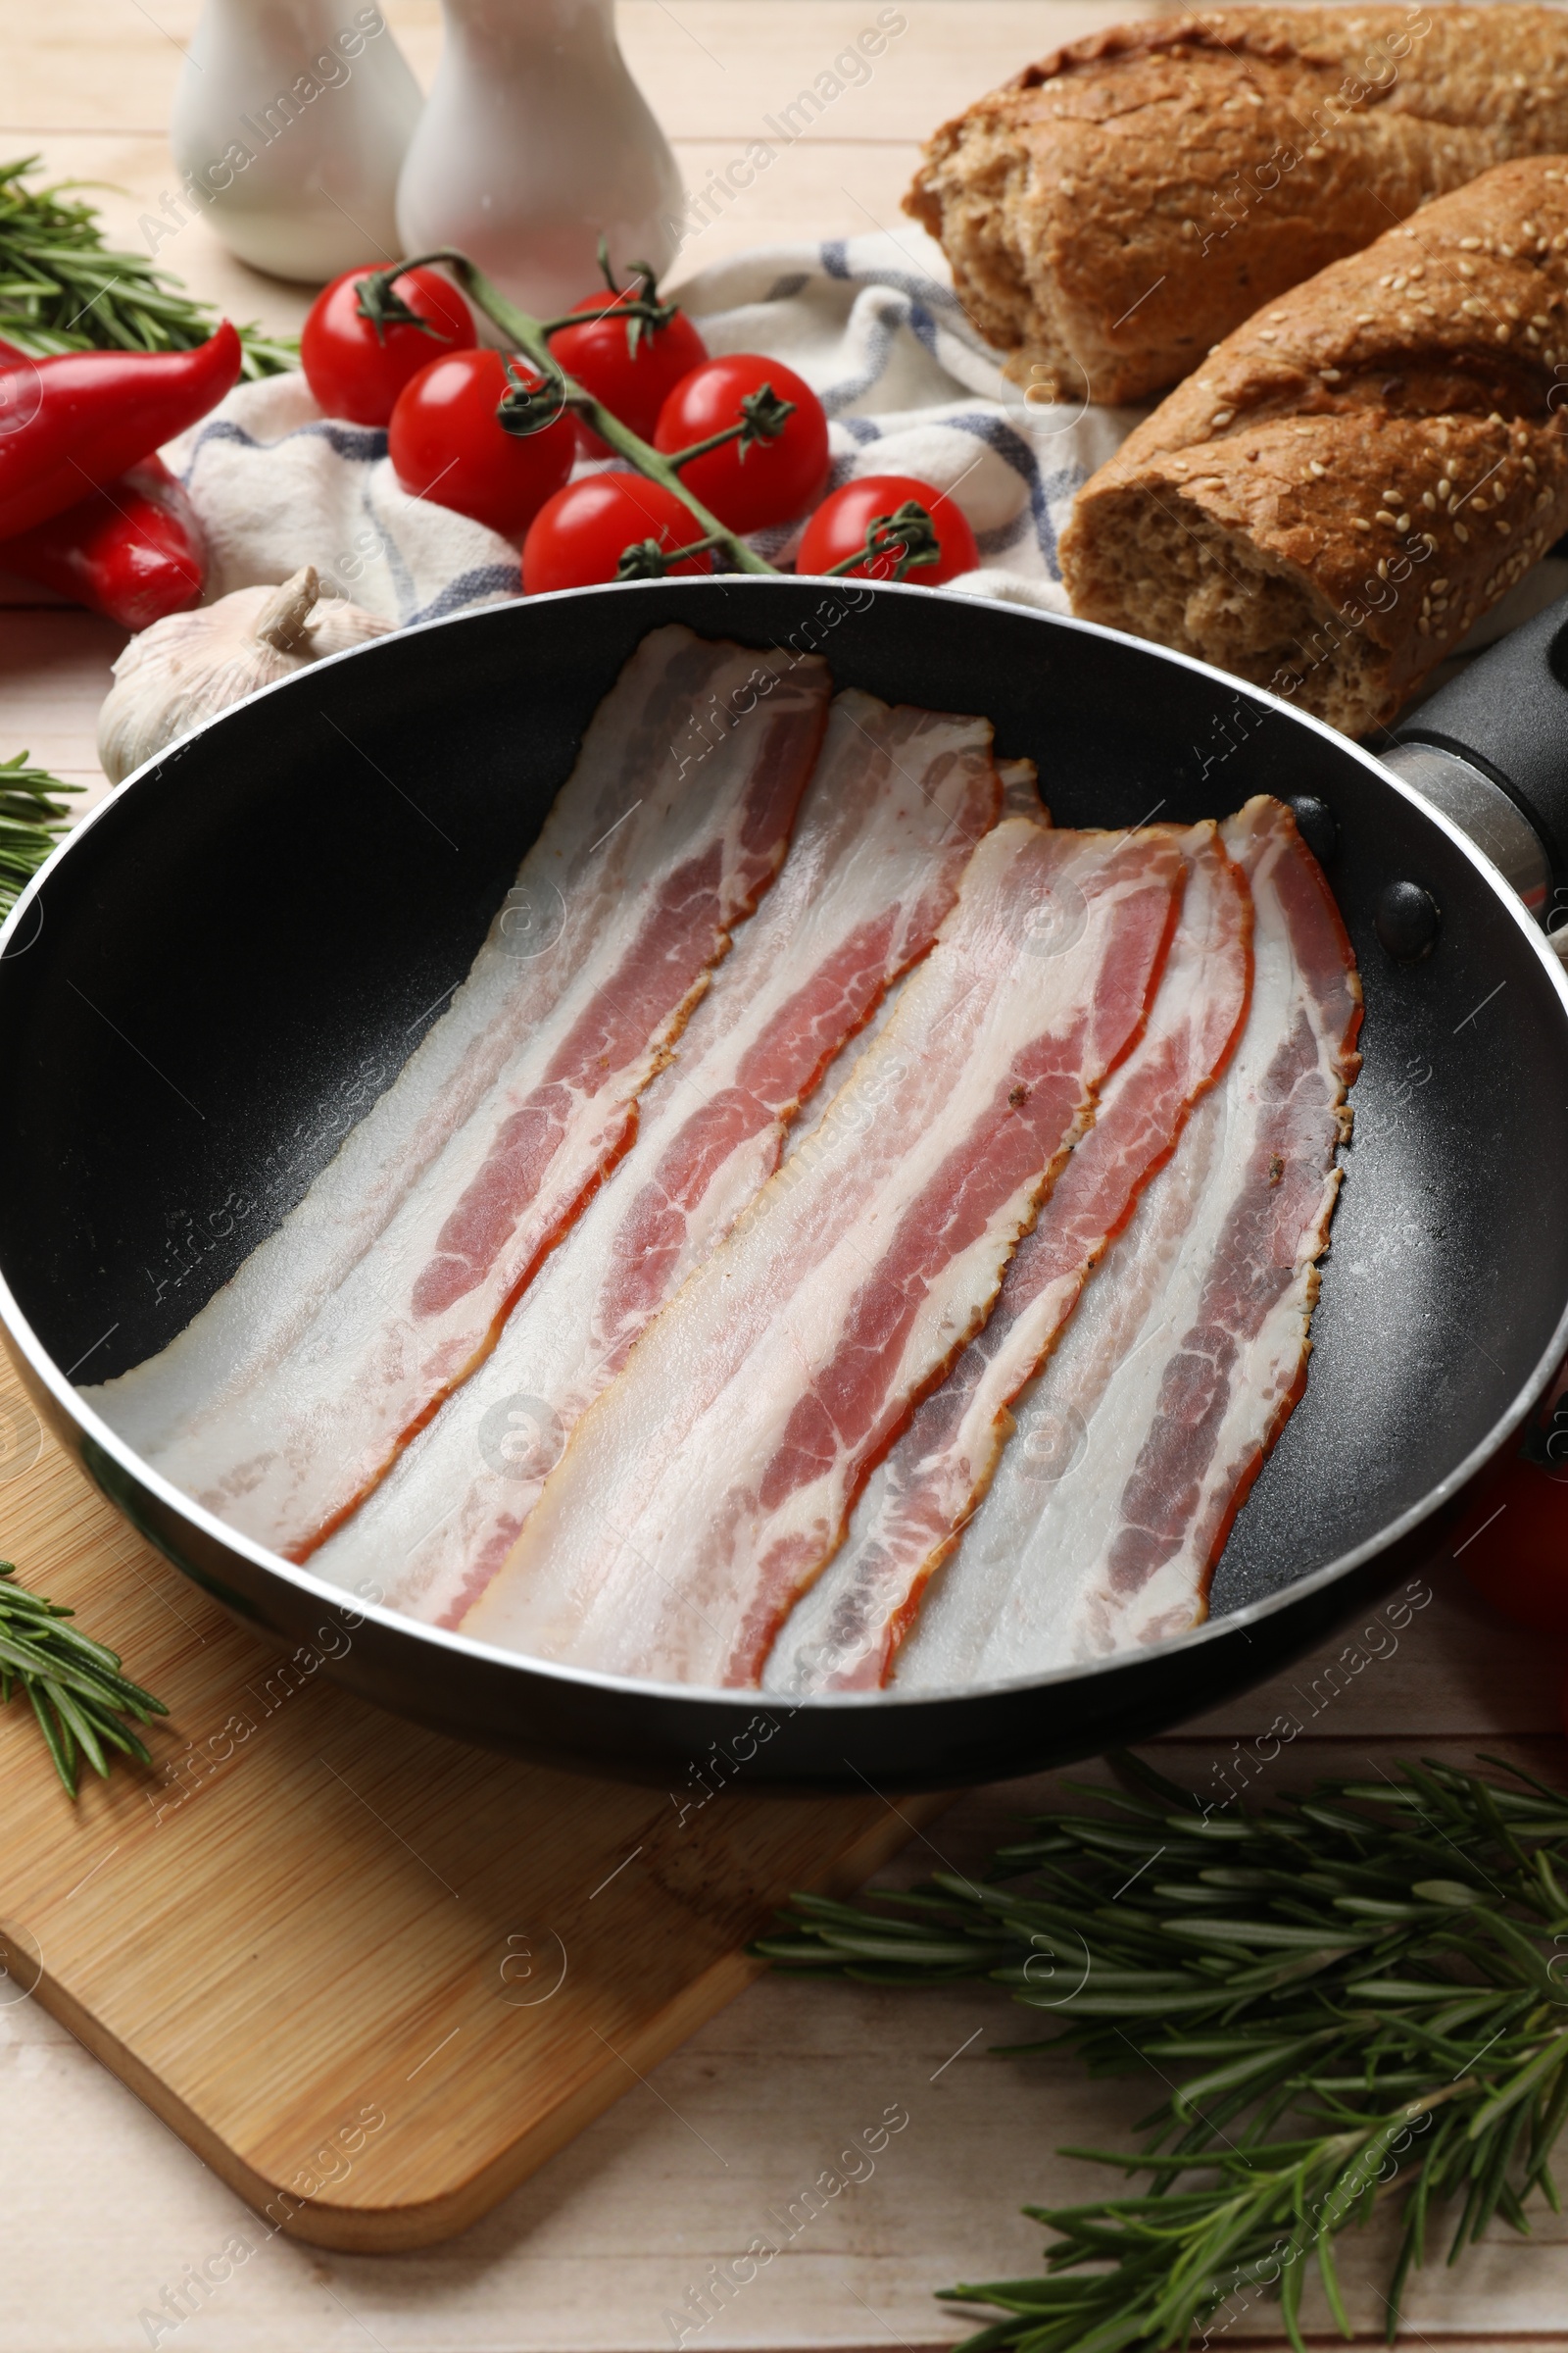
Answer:
[[[835,699],[783,873],[644,1094],[635,1146],[480,1372],[320,1548],[320,1577],[435,1624],[480,1598],[569,1431],[773,1174],[827,1061],[931,948],[997,798],[987,720]]]

